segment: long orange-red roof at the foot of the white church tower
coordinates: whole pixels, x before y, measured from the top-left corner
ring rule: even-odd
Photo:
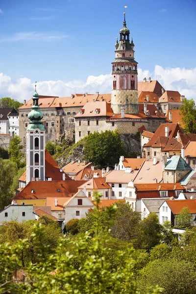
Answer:
[[[72,197],[85,181],[31,181],[14,199]],[[86,183],[86,182],[85,182]]]

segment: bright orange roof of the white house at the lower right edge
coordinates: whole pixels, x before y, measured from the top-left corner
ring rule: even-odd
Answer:
[[[179,214],[184,207],[188,207],[190,213],[196,213],[196,199],[166,200],[166,203],[168,204],[174,215]]]

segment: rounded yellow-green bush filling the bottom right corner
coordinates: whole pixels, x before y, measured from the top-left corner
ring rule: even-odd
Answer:
[[[142,294],[156,285],[164,288],[163,294],[195,294],[196,271],[191,262],[159,259],[141,271],[138,284]]]

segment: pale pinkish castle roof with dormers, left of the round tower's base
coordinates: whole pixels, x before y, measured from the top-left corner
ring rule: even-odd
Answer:
[[[113,110],[111,104],[105,101],[88,102],[82,107],[82,112],[77,113],[74,117],[101,117],[101,116],[112,116]]]

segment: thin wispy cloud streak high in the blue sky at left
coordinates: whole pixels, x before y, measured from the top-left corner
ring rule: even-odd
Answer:
[[[0,43],[18,42],[18,41],[33,41],[33,42],[53,42],[61,41],[69,37],[63,32],[21,32],[11,36],[0,36]]]

